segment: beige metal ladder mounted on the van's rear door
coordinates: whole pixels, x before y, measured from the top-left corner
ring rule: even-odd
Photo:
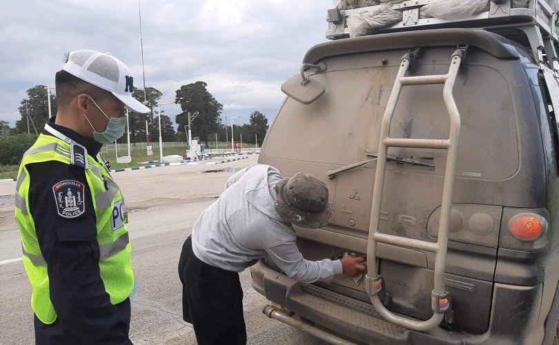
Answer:
[[[402,57],[400,70],[396,77],[386,112],[382,119],[380,128],[380,143],[378,161],[375,175],[375,185],[373,188],[373,205],[371,207],[371,224],[369,226],[369,241],[367,245],[367,266],[369,273],[365,277],[366,291],[371,297],[371,302],[375,309],[389,322],[399,326],[413,329],[415,331],[428,331],[435,328],[442,321],[444,314],[450,309],[450,295],[444,290],[444,267],[447,259],[447,242],[449,237],[449,221],[452,210],[452,195],[454,189],[454,178],[456,160],[458,156],[458,141],[460,138],[460,113],[456,107],[453,97],[453,88],[458,71],[462,65],[462,60],[466,54],[466,47],[458,47],[451,57],[449,72],[446,75],[425,75],[419,77],[406,77],[413,62],[413,52],[406,53]],[[389,137],[392,117],[400,97],[403,86],[418,86],[444,84],[444,103],[450,117],[449,139],[405,139]],[[441,217],[439,223],[438,241],[436,243],[410,239],[395,235],[383,234],[378,231],[380,219],[380,207],[382,202],[382,191],[384,189],[384,173],[388,149],[391,147],[400,148],[432,148],[448,150],[447,167],[444,175],[444,187],[442,191]],[[434,289],[431,293],[431,308],[433,316],[426,321],[416,321],[393,314],[382,304],[379,294],[383,293],[382,277],[377,275],[376,247],[377,243],[391,244],[404,248],[426,250],[436,253],[435,256],[435,279]],[[373,274],[373,276],[369,275]]]

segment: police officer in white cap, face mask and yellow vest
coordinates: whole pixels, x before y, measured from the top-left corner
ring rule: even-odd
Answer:
[[[57,116],[23,155],[15,194],[35,342],[131,344],[126,206],[99,150],[123,134],[125,106],[149,109],[108,54],[70,52],[55,80]]]

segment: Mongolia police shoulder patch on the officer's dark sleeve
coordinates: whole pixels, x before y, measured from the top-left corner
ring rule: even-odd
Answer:
[[[85,186],[79,181],[66,179],[52,186],[57,213],[63,218],[77,218],[86,212]]]

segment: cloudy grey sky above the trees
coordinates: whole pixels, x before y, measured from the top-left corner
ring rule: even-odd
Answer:
[[[175,101],[195,81],[224,105],[228,124],[254,111],[272,120],[305,52],[326,41],[331,0],[3,0],[0,11],[0,120],[14,126],[26,90],[54,86],[66,52],[92,49],[121,59],[143,88]],[[54,91],[54,90],[53,90]],[[163,108],[164,107],[164,108]],[[179,106],[161,106],[175,120]]]

